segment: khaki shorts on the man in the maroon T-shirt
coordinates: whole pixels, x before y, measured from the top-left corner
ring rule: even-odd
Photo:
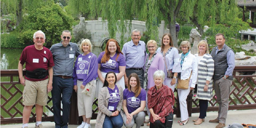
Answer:
[[[29,81],[25,80],[25,87],[22,94],[23,105],[47,105],[47,85],[49,79],[42,81]]]

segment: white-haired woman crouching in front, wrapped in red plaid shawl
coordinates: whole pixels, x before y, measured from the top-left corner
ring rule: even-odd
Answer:
[[[148,91],[148,108],[150,110],[150,128],[172,127],[174,94],[171,88],[163,84],[165,73],[156,71],[153,75],[155,86]],[[167,118],[166,117],[171,117]]]

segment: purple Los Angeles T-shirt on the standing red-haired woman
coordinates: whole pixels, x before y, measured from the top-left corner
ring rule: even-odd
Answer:
[[[100,65],[100,71],[101,72],[119,73],[119,66],[126,66],[123,54],[119,54],[119,56],[116,60],[117,53],[113,57],[110,57],[108,62],[101,63],[101,58],[103,57],[104,54],[105,54],[105,51],[101,52],[99,57],[98,57],[98,64],[101,64]]]

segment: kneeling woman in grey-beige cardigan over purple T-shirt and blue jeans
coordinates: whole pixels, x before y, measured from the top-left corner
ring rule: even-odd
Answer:
[[[96,119],[96,128],[121,128],[123,119],[121,108],[123,105],[123,89],[116,85],[116,74],[108,72],[103,87],[98,95],[99,112]]]

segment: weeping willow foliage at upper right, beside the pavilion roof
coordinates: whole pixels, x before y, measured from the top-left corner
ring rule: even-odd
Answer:
[[[181,17],[193,22],[201,35],[206,24],[227,24],[238,17],[236,0],[188,0],[182,4],[181,12]]]

